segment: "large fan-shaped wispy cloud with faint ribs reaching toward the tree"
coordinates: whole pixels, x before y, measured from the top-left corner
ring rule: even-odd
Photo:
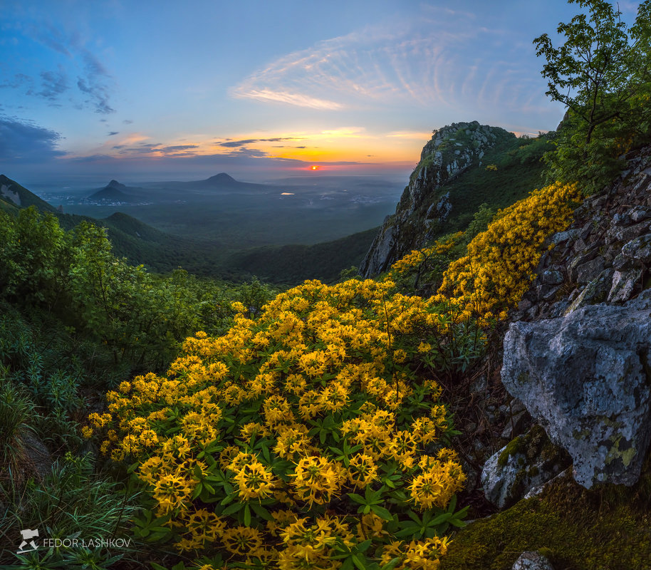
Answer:
[[[504,58],[504,43],[515,45],[519,31],[469,26],[468,17],[424,8],[420,19],[321,41],[272,61],[231,95],[321,110],[396,104],[491,110],[506,96],[517,103],[532,88],[542,93],[522,50]]]

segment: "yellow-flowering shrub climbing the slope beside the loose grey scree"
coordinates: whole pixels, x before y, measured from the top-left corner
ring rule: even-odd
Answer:
[[[576,185],[556,183],[500,210],[468,254],[449,265],[437,301],[451,301],[480,323],[506,318],[534,277],[543,242],[568,226],[579,197]]]

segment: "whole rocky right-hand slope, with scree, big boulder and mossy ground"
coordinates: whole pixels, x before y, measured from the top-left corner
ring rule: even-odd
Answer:
[[[523,549],[557,569],[650,567],[651,147],[625,159],[548,238],[502,353],[455,410],[468,497],[502,512],[464,529],[442,569],[521,568]]]

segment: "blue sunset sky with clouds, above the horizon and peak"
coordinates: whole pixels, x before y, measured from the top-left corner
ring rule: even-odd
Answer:
[[[553,130],[565,0],[4,0],[0,173],[405,175],[432,130]],[[620,1],[624,19],[637,3]]]

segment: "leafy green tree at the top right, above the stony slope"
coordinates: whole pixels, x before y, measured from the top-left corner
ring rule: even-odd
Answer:
[[[627,28],[621,12],[604,0],[568,0],[587,9],[558,25],[565,38],[553,46],[536,38],[536,55],[547,63],[548,95],[566,105],[567,117],[549,152],[548,177],[580,182],[593,192],[618,172],[618,157],[647,136],[651,109],[651,0]],[[551,182],[552,180],[550,180]]]

